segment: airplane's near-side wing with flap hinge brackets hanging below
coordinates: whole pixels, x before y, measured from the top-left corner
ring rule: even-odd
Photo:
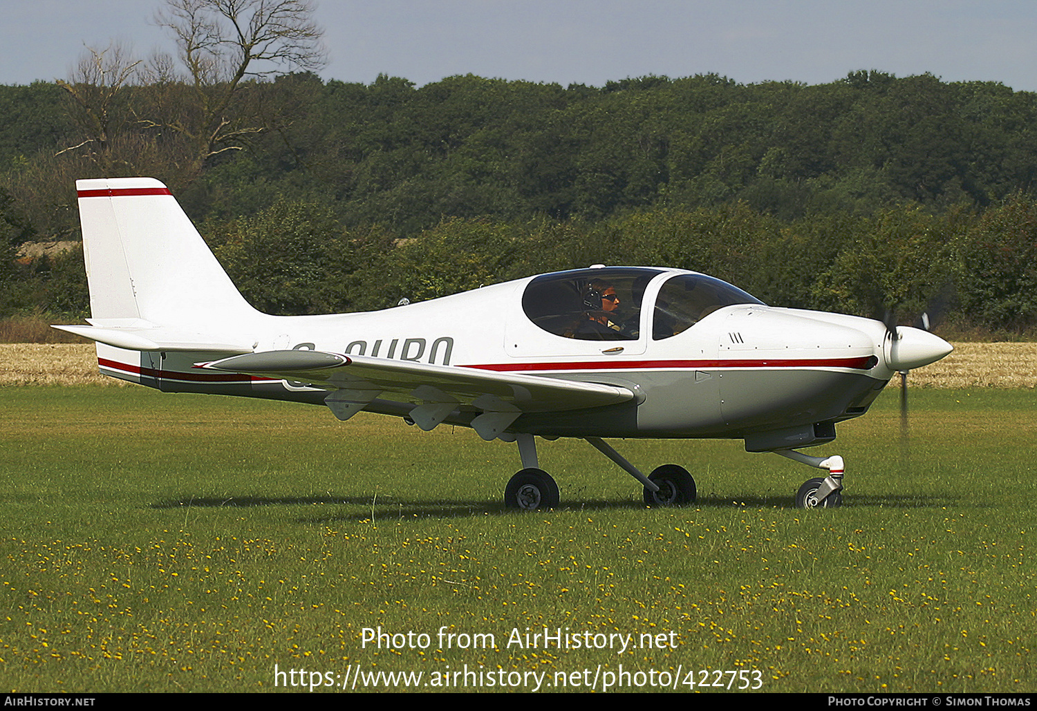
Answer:
[[[382,397],[415,403],[411,419],[425,430],[459,408],[481,413],[472,420],[472,427],[484,439],[499,436],[524,413],[601,407],[635,397],[633,391],[618,386],[317,350],[247,353],[197,367],[280,377],[329,390],[325,402],[340,420]]]

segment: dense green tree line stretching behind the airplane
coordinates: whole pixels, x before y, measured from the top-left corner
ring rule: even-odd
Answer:
[[[129,60],[101,54],[94,84],[65,82],[78,95],[0,87],[2,313],[84,312],[81,257],[15,253],[78,238],[76,178],[141,174],[277,313],[626,263],[707,272],[780,306],[1037,325],[1037,94],[870,70],[604,87],[304,72],[239,81],[202,142],[174,130],[205,123],[197,82],[119,82]]]

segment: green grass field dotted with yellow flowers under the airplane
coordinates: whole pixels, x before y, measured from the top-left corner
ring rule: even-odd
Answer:
[[[846,458],[837,510],[793,509],[816,471],[740,442],[614,443],[695,475],[660,510],[543,443],[563,508],[529,515],[500,504],[514,446],[469,430],[4,388],[0,686],[1032,692],[1034,398],[913,390],[904,449],[891,389],[817,452]],[[544,627],[591,648],[515,644]]]

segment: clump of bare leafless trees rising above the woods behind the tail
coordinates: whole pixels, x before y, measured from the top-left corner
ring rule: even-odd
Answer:
[[[144,62],[119,44],[88,47],[58,80],[81,136],[57,155],[88,161],[78,164],[87,173],[158,175],[184,188],[214,157],[286,120],[283,92],[257,84],[325,64],[313,10],[311,0],[165,0],[156,23],[175,56]]]

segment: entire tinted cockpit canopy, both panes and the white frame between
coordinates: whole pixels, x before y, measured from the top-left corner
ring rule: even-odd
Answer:
[[[646,325],[658,341],[686,331],[725,306],[763,304],[720,279],[686,273],[667,279],[654,304],[646,304],[648,284],[662,274],[646,267],[601,267],[543,275],[526,287],[523,311],[556,336],[634,341]],[[643,324],[642,312],[652,307],[650,323]]]

